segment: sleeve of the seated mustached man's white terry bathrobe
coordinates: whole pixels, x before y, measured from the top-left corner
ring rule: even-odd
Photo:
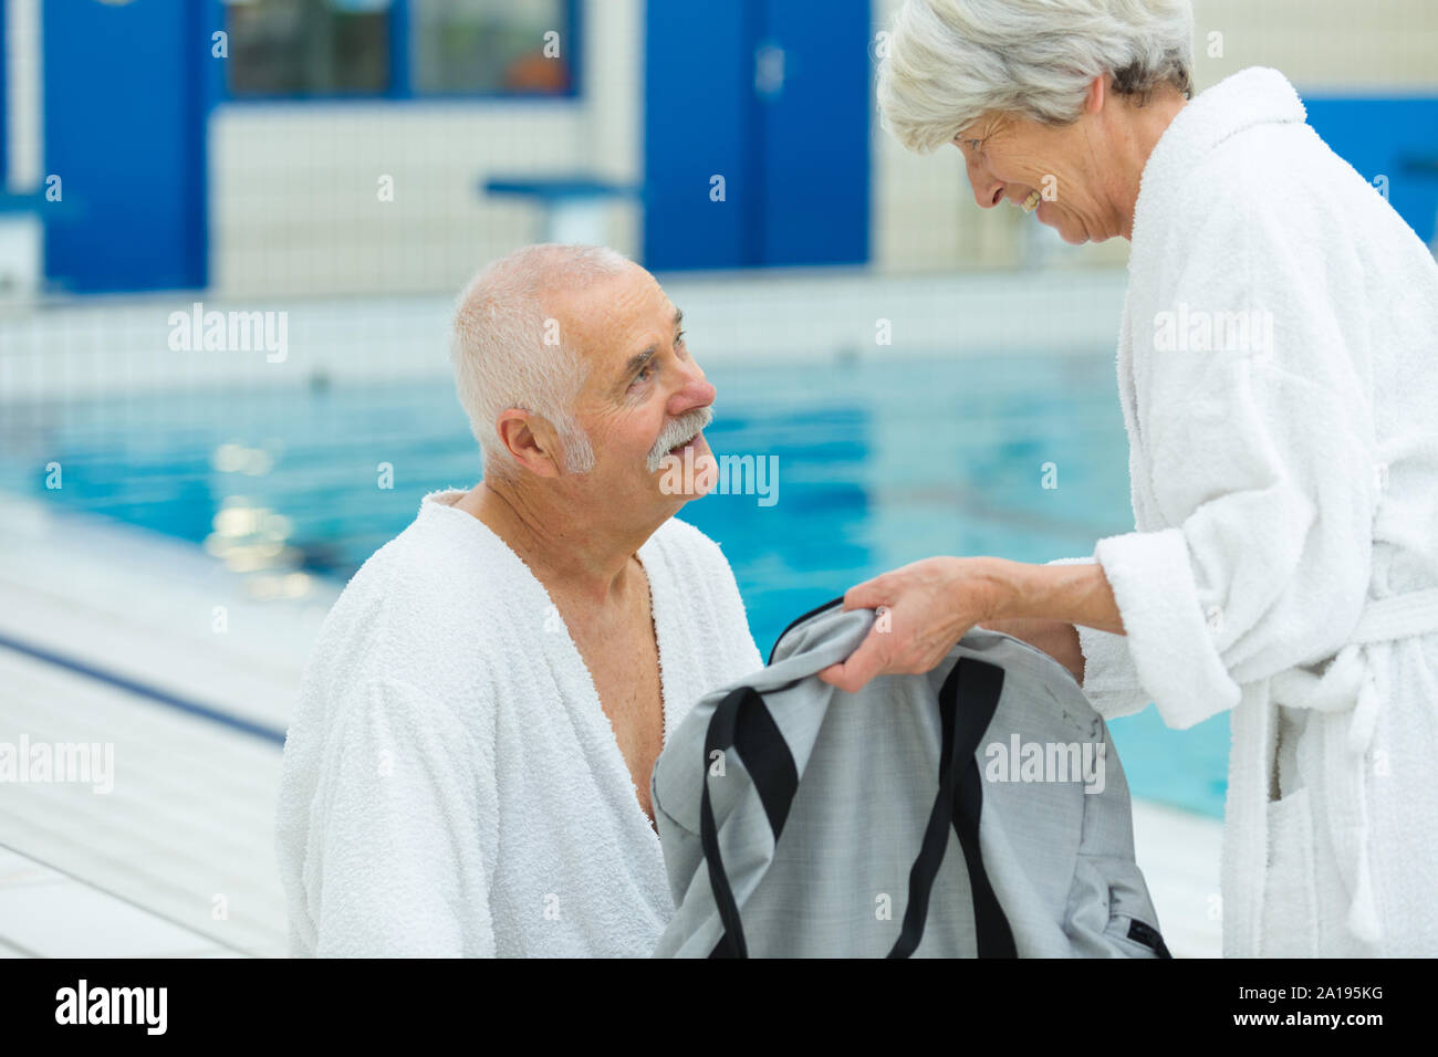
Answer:
[[[476,739],[443,702],[371,680],[325,752],[306,861],[318,956],[493,956]]]

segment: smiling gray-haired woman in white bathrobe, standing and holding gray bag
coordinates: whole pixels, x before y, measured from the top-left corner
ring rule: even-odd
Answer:
[[[1107,718],[1232,709],[1225,955],[1438,955],[1438,266],[1278,72],[1192,98],[1191,36],[1188,0],[899,13],[887,131],[953,144],[985,209],[1132,243],[1136,523],[1091,558],[860,584],[890,630],[823,677],[928,672],[982,624]]]

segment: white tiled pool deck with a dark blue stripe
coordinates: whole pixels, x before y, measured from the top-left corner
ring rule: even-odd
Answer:
[[[285,955],[276,733],[334,597],[259,601],[187,544],[0,498],[0,738],[114,745],[109,792],[0,787],[0,955]],[[1169,948],[1218,956],[1219,824],[1140,801],[1135,841]]]

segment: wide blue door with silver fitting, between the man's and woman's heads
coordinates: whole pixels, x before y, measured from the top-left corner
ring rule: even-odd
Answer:
[[[869,43],[869,0],[649,0],[644,265],[867,262]]]

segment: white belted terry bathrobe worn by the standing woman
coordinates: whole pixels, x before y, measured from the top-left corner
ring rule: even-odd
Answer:
[[[1080,630],[1084,689],[1232,709],[1228,956],[1438,955],[1438,267],[1373,175],[1254,68],[1178,114],[1135,214],[1137,531],[1093,555],[1127,636]]]

